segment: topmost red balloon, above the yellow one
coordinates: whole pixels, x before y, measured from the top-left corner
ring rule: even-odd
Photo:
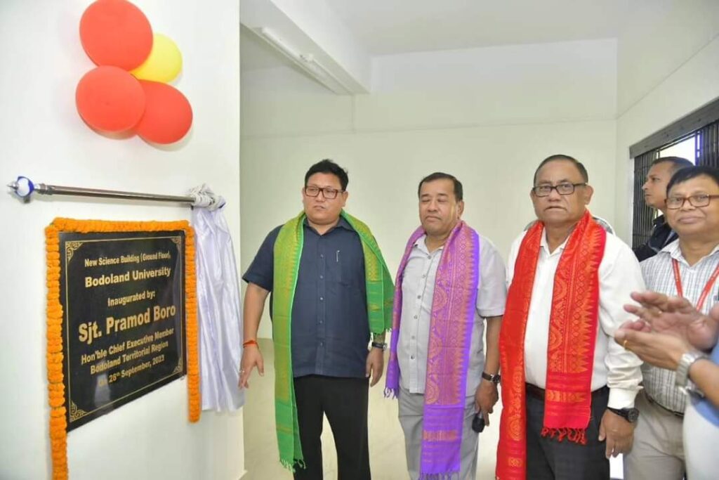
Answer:
[[[98,0],[80,19],[80,40],[96,65],[132,70],[152,50],[152,27],[145,14],[127,0]]]

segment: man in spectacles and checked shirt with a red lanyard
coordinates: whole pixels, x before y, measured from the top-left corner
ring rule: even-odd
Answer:
[[[664,212],[678,238],[641,263],[644,281],[648,289],[682,296],[707,314],[719,303],[719,172],[707,166],[682,168],[669,181],[666,197]],[[682,422],[690,408],[688,384],[687,376],[677,379],[675,370],[642,366],[644,390],[637,397],[641,417],[634,448],[624,458],[628,479],[680,480],[686,474]]]

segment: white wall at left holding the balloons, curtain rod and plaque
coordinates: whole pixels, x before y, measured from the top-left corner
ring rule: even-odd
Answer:
[[[177,42],[177,86],[194,124],[180,148],[109,140],[75,111],[75,86],[93,67],[78,22],[90,1],[0,2],[0,172],[49,184],[184,194],[203,182],[223,194],[239,255],[239,5],[136,0],[155,31]],[[54,217],[189,219],[172,204],[0,196],[0,478],[50,474],[45,370],[45,238]],[[242,415],[187,422],[184,379],[68,435],[72,479],[228,479],[244,471]]]

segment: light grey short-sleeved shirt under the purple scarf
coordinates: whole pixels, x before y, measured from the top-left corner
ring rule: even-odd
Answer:
[[[430,253],[425,239],[426,235],[423,235],[413,245],[404,271],[402,317],[397,343],[400,386],[413,394],[424,393],[434,280],[443,250],[440,247]],[[482,317],[498,317],[504,314],[507,298],[504,262],[495,246],[482,235],[480,235],[480,281],[477,289],[470,363],[467,369],[467,396],[475,394],[485,366]]]

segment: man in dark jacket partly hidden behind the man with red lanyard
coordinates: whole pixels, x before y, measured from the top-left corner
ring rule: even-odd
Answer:
[[[644,201],[647,207],[659,210],[661,214],[652,222],[649,240],[634,249],[634,255],[638,261],[653,257],[659,250],[677,240],[677,234],[667,223],[667,207],[664,204],[664,199],[667,198],[669,178],[672,178],[672,175],[680,168],[691,166],[694,164],[682,157],[661,157],[651,163],[641,190],[644,191]]]

